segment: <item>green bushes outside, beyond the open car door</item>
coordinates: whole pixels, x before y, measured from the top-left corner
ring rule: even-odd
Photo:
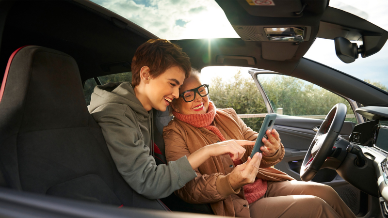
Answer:
[[[349,102],[319,86],[284,75],[259,78],[273,109],[283,108],[291,116],[326,115],[337,103],[347,106],[347,114],[354,114]],[[237,114],[267,113],[256,84],[243,78],[239,71],[231,80],[214,78],[210,84],[210,97],[217,108],[233,108]],[[263,118],[244,118],[246,125],[259,131]],[[356,122],[356,118],[347,121]]]

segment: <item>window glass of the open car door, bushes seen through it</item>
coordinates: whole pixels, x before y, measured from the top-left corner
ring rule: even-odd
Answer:
[[[349,102],[343,97],[299,78],[259,74],[259,82],[277,114],[324,119],[337,103],[348,108],[345,121],[357,123]]]

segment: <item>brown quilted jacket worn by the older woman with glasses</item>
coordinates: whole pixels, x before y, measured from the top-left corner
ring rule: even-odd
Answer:
[[[233,109],[217,109],[215,125],[226,140],[256,140],[257,133],[247,127]],[[174,118],[163,130],[167,161],[189,156],[199,148],[216,143],[220,139],[209,129],[197,128]],[[252,146],[245,146],[245,162]],[[268,181],[291,180],[286,173],[270,168],[280,162],[284,156],[284,147],[272,157],[263,156],[257,178]],[[228,174],[235,168],[229,155],[208,159],[198,169],[197,177],[175,193],[186,202],[210,203],[213,212],[221,216],[249,217],[249,202],[244,190],[233,190]],[[265,192],[265,191],[264,191]]]

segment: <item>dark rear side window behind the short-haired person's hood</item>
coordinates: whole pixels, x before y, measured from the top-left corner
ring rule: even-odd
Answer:
[[[108,82],[132,82],[132,72],[111,74],[97,78],[100,84],[105,84]],[[85,81],[83,85],[83,94],[85,96],[86,105],[90,104],[90,97],[93,93],[94,87],[97,86],[97,82],[94,78],[90,78]]]

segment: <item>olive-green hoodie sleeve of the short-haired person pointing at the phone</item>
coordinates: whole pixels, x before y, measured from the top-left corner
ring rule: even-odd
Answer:
[[[164,198],[196,177],[186,156],[168,165],[156,165],[129,109],[116,105],[92,116],[101,126],[118,171],[139,194],[149,199]]]

